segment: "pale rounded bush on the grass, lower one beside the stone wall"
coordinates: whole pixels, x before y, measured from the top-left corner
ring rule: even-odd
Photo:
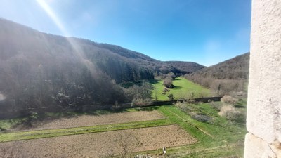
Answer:
[[[221,107],[221,112],[218,113],[221,117],[226,117],[229,121],[242,121],[244,120],[244,114],[231,105],[225,105]]]

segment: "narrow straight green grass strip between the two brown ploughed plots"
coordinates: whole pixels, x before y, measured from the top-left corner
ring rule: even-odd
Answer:
[[[48,129],[41,131],[24,131],[15,133],[1,133],[0,142],[8,142],[15,140],[29,140],[37,138],[50,138],[56,136],[68,136],[85,133],[97,133],[105,131],[116,131],[122,129],[139,129],[153,126],[165,126],[173,124],[169,119],[157,119],[151,121],[136,121],[122,124],[106,124],[98,126],[81,126],[69,129]]]

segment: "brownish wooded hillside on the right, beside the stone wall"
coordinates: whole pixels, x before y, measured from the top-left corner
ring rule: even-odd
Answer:
[[[205,87],[214,94],[224,95],[244,91],[249,77],[249,53],[244,53],[230,60],[211,67],[204,67],[185,77]]]

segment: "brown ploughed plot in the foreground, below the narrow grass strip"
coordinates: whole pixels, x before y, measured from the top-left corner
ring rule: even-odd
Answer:
[[[15,149],[24,150],[21,153],[28,157],[106,157],[122,153],[122,142],[128,143],[129,152],[157,150],[163,146],[169,152],[169,147],[197,140],[179,126],[169,125],[0,143],[0,149],[13,145]]]

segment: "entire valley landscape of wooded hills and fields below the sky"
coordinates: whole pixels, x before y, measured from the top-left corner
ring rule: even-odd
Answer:
[[[164,62],[5,19],[0,48],[0,157],[243,155],[249,53]]]

